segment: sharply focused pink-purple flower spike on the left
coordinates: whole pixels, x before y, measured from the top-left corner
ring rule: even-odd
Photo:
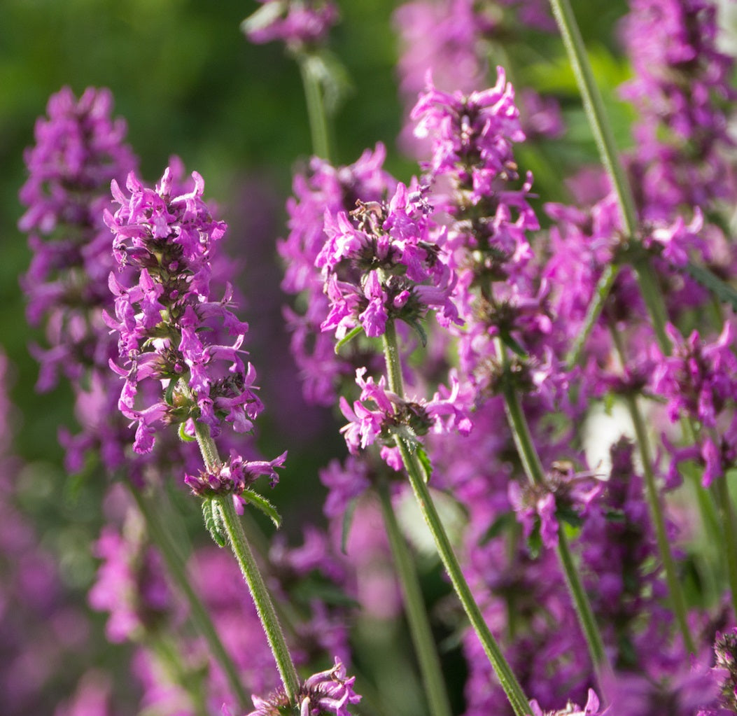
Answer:
[[[126,367],[111,367],[125,377],[119,407],[138,424],[136,452],[153,448],[158,424],[194,420],[217,435],[228,421],[237,432],[248,432],[261,410],[254,369],[240,357],[248,326],[228,308],[232,289],[219,301],[210,295],[214,247],[226,225],[202,200],[200,175],[193,172],[192,178],[191,192],[172,196],[170,169],[156,189],[131,173],[130,196],[113,182],[120,208],[105,214],[119,267],[137,274],[124,283],[111,273],[115,315],[105,316],[119,333]],[[136,407],[139,382],[146,379],[161,382],[164,399],[159,393],[153,403]]]

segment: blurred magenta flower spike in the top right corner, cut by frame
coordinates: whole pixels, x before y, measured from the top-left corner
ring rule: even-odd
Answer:
[[[624,42],[635,77],[621,94],[640,111],[632,175],[648,218],[670,218],[681,203],[710,206],[734,194],[725,150],[734,59],[717,43],[716,4],[633,0]]]

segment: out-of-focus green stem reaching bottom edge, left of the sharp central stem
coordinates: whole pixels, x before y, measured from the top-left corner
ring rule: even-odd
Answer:
[[[445,679],[443,678],[438,651],[433,639],[433,632],[430,628],[430,620],[427,618],[425,602],[422,599],[422,590],[419,586],[417,572],[405,538],[399,530],[388,486],[382,483],[379,485],[378,492],[384,525],[391,546],[391,555],[394,558],[394,567],[397,570],[399,582],[402,584],[407,620],[417,661],[419,661],[420,672],[422,673],[422,683],[425,685],[430,715],[451,716],[453,711],[450,709]]]

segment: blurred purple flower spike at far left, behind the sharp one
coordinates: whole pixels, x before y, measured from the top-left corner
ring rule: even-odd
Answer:
[[[49,99],[48,118],[36,122],[36,144],[25,155],[29,177],[19,198],[27,211],[18,228],[29,234],[33,259],[21,285],[28,320],[46,320],[51,345],[33,350],[41,390],[54,387],[60,371],[73,381],[93,367],[107,371],[114,355],[100,314],[110,303],[113,267],[102,212],[111,203],[111,180],[125,178],[137,161],[124,144],[125,121],[111,119],[112,103],[105,89],[88,88],[80,99],[61,89]]]

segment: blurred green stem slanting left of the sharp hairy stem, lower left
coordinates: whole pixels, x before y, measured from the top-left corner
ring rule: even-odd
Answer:
[[[243,685],[238,676],[237,669],[233,664],[228,652],[223,646],[223,642],[220,641],[217,631],[214,628],[210,615],[200,600],[199,595],[192,588],[192,583],[186,574],[186,562],[178,549],[177,544],[172,540],[170,533],[163,527],[157,517],[157,511],[150,505],[149,500],[144,496],[139,488],[129,485],[130,493],[133,495],[133,499],[136,500],[136,505],[146,522],[148,533],[151,536],[154,544],[158,547],[161,556],[164,558],[164,562],[167,565],[167,573],[170,575],[181,594],[184,595],[187,604],[189,605],[189,615],[192,622],[195,624],[195,628],[200,633],[207,645],[212,657],[220,664],[220,668],[226,675],[228,685],[237,696],[238,703],[242,710],[248,708],[251,703],[251,699],[243,688]]]

